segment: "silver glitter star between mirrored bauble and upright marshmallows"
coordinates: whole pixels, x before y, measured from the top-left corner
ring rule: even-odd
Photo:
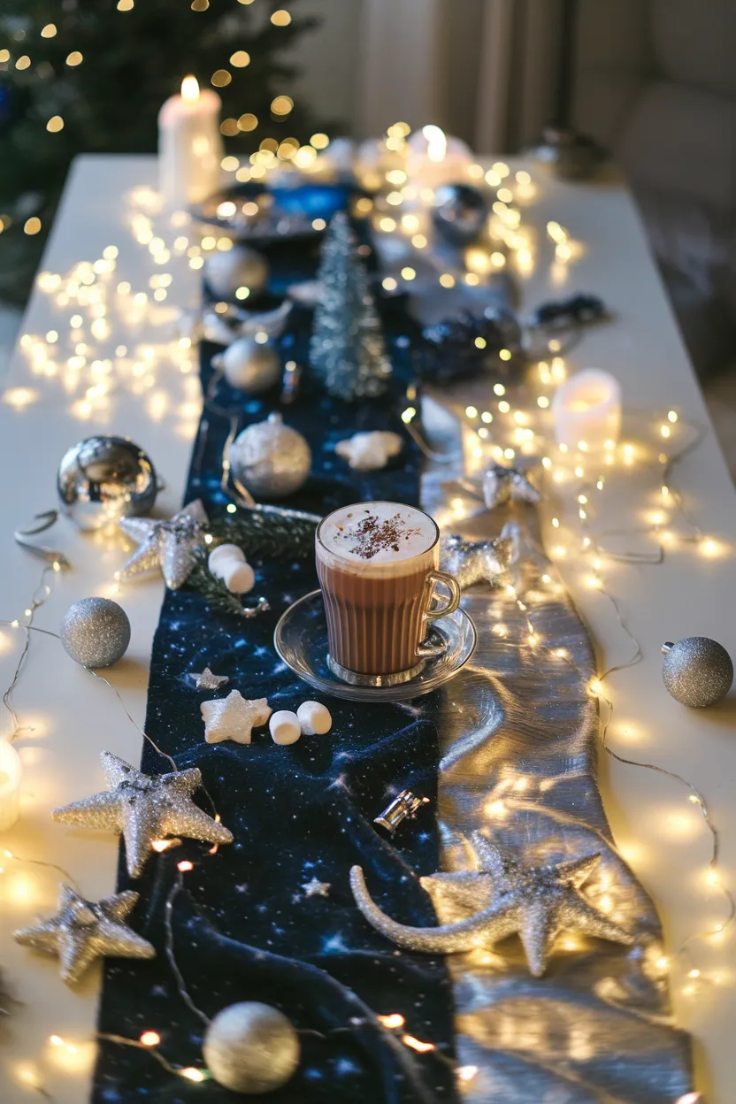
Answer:
[[[204,548],[206,523],[207,516],[199,498],[169,521],[120,518],[120,529],[138,542],[138,549],[117,577],[136,578],[160,567],[169,590],[178,591],[192,573],[198,552]]]

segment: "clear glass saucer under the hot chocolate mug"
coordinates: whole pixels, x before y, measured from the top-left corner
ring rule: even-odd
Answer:
[[[429,639],[445,640],[439,656],[427,659],[425,668],[408,682],[395,687],[362,687],[342,682],[327,664],[327,618],[322,592],[312,591],[281,615],[274,633],[280,658],[316,690],[346,698],[349,701],[409,701],[429,693],[454,678],[476,650],[476,626],[465,612],[456,609],[448,617],[431,622]]]

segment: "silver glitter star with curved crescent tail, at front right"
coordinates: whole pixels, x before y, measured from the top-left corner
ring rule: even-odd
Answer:
[[[546,867],[524,867],[505,858],[479,832],[473,834],[478,870],[422,878],[422,885],[459,910],[462,919],[439,927],[409,927],[378,909],[365,887],[360,867],[350,871],[358,907],[376,931],[399,947],[427,954],[456,954],[490,947],[518,934],[530,973],[544,974],[559,932],[578,932],[615,943],[633,936],[586,901],[580,887],[600,861],[600,854]],[[465,914],[465,915],[463,915]]]

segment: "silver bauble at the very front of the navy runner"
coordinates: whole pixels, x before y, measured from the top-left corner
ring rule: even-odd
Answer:
[[[248,1096],[270,1093],[299,1065],[299,1036],[277,1008],[249,1000],[217,1012],[202,1053],[217,1084]]]

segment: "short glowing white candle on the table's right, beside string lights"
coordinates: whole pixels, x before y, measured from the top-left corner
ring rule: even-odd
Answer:
[[[618,380],[598,368],[584,369],[557,389],[552,415],[558,445],[590,452],[606,448],[621,435]]]

